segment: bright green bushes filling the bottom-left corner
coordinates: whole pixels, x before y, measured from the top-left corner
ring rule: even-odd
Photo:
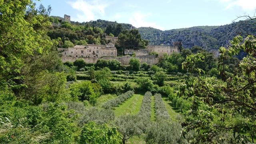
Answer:
[[[44,109],[13,107],[7,115],[4,113],[0,114],[0,143],[74,142],[76,115],[64,105],[50,103]]]

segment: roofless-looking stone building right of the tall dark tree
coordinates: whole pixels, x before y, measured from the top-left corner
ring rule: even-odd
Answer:
[[[157,52],[158,55],[161,57],[164,53],[170,55],[173,52],[180,52],[178,46],[154,46],[150,45],[146,48],[148,50],[148,53],[150,52]]]

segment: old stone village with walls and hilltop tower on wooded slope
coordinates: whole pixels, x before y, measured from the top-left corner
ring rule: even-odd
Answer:
[[[70,22],[70,16],[65,15],[64,20]],[[110,43],[102,44],[87,44],[86,46],[76,45],[69,48],[58,48],[58,52],[62,54],[62,61],[74,62],[78,58],[84,59],[87,63],[96,63],[98,59],[111,60],[116,59],[124,65],[128,65],[132,54],[135,58],[140,60],[141,63],[157,64],[159,58],[155,55],[149,55],[150,52],[157,52],[161,57],[164,53],[170,55],[173,52],[179,52],[177,45],[164,46],[164,45],[149,45],[146,49],[133,50],[126,49],[124,54],[126,56],[117,57],[117,49],[115,44],[118,45],[118,37],[106,36],[106,40]],[[127,56],[128,55],[128,56]]]

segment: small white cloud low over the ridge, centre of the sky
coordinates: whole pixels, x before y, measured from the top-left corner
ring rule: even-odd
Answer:
[[[147,16],[150,16],[150,15],[151,15],[150,13],[149,14],[141,14],[140,12],[136,12],[133,14],[132,18],[129,19],[130,24],[132,24],[136,28],[153,27],[153,28],[163,30],[163,28],[160,26],[157,26],[155,22],[147,22],[146,20],[144,20],[144,18],[146,18]]]

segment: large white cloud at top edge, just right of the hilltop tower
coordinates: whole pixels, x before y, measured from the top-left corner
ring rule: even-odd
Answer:
[[[84,0],[76,0],[75,2],[68,2],[72,8],[82,12],[82,14],[77,14],[76,18],[72,18],[72,21],[87,22],[90,20],[95,20],[95,16],[104,16],[105,8],[109,4],[102,4],[102,1],[92,0],[90,2]]]

